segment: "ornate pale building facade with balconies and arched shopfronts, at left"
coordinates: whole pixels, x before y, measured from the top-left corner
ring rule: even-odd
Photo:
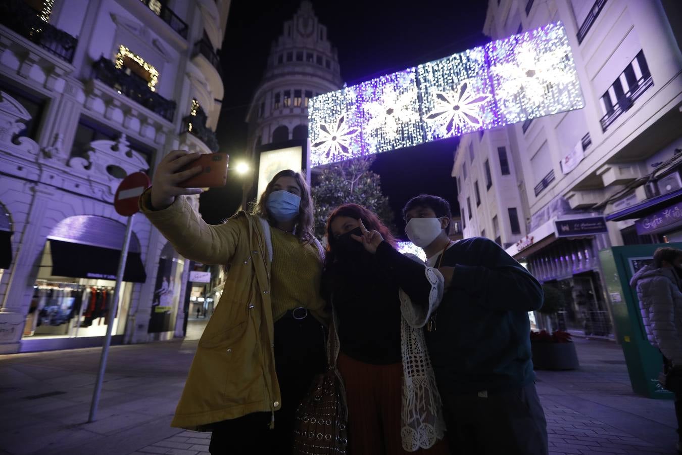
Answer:
[[[188,263],[135,216],[119,310],[121,179],[216,151],[229,0],[0,5],[0,353],[183,333]],[[198,199],[194,203],[198,205]]]

